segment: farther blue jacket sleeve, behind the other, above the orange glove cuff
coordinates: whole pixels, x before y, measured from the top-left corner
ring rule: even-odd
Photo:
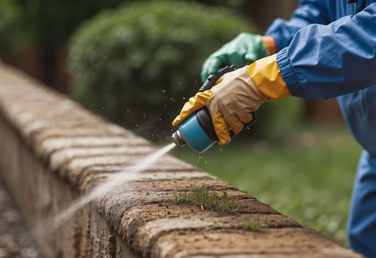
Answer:
[[[290,21],[276,19],[265,32],[276,41],[277,51],[290,45],[296,32],[309,24],[331,22],[326,0],[300,0],[298,8],[291,15]]]

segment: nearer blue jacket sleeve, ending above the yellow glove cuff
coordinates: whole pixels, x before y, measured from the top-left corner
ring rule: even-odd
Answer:
[[[329,25],[300,29],[277,53],[293,96],[328,99],[376,85],[376,3]]]

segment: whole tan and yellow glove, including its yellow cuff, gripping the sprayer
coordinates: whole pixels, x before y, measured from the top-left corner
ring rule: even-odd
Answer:
[[[212,117],[219,144],[226,145],[230,142],[228,126],[237,134],[243,129],[243,123],[252,120],[251,112],[256,111],[262,103],[290,95],[280,74],[276,55],[269,56],[224,74],[211,90],[191,97],[172,125],[179,125],[206,106]]]

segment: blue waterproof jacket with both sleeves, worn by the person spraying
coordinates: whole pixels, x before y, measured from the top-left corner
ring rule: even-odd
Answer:
[[[266,35],[293,96],[338,97],[356,140],[376,158],[376,0],[300,0]]]

